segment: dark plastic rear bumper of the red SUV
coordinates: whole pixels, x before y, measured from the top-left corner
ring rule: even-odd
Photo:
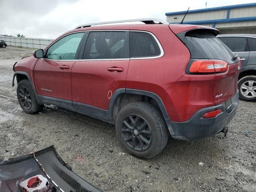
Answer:
[[[228,110],[226,110],[226,103],[223,102],[216,106],[198,110],[186,122],[169,122],[168,128],[171,136],[174,139],[192,141],[218,134],[230,123],[236,114],[238,106],[238,90],[231,100],[232,105]],[[202,118],[204,113],[218,109],[221,109],[222,113],[218,114],[216,117],[209,119]]]

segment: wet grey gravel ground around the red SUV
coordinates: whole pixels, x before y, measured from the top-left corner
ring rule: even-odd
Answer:
[[[1,159],[54,144],[76,174],[103,191],[256,191],[256,103],[239,102],[227,137],[170,139],[160,155],[141,160],[122,149],[111,124],[55,106],[24,113],[12,66],[32,51],[0,48]]]

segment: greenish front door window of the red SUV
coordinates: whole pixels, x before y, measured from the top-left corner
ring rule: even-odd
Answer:
[[[84,32],[74,33],[61,38],[48,48],[46,58],[54,60],[73,60],[83,35]]]

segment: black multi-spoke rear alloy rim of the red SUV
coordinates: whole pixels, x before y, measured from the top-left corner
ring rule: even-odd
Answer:
[[[122,122],[122,137],[133,150],[144,151],[152,142],[152,131],[142,116],[129,114]]]

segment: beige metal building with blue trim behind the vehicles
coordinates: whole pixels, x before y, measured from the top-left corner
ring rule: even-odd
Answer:
[[[167,22],[181,22],[186,11],[166,13]],[[221,34],[256,34],[256,3],[189,10],[183,24],[203,25]]]

